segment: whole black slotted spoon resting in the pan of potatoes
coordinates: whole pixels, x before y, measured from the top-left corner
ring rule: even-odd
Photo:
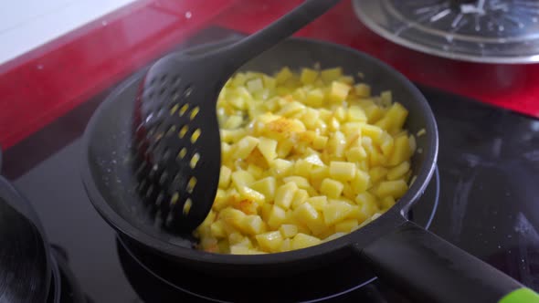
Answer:
[[[307,0],[259,32],[205,54],[175,53],[146,73],[134,110],[137,191],[165,228],[200,225],[217,193],[221,140],[218,94],[244,63],[340,0]]]

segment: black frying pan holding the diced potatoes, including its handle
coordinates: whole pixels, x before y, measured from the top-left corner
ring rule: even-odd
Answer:
[[[216,46],[192,51],[212,47]],[[407,220],[407,210],[417,202],[433,174],[439,146],[437,125],[428,102],[407,78],[375,57],[352,48],[303,38],[289,38],[241,69],[272,73],[283,66],[312,67],[314,63],[320,63],[322,68],[343,67],[350,75],[363,73],[365,78],[361,80],[372,86],[374,94],[392,90],[394,99],[409,110],[407,130],[427,131],[417,138],[417,148],[423,152],[412,159],[415,183],[395,206],[372,223],[318,246],[254,256],[198,251],[194,249],[194,239],[168,232],[144,210],[146,205],[134,189],[131,113],[144,71],[115,89],[87,126],[81,173],[91,203],[111,226],[137,246],[211,276],[279,277],[315,270],[355,254],[365,268],[417,300],[497,302],[509,293],[510,299],[516,298],[514,294],[534,296],[533,291],[501,271]]]

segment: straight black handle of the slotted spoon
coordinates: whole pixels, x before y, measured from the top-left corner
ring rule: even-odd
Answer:
[[[290,13],[248,36],[237,43],[220,49],[218,52],[227,56],[227,68],[233,71],[240,68],[253,57],[275,46],[282,39],[292,36],[303,26],[308,25],[318,16],[322,16],[341,0],[307,0]]]

